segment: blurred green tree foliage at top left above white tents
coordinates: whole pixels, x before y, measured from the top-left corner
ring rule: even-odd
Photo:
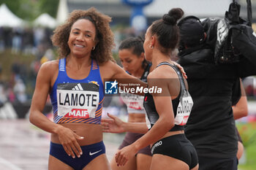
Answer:
[[[31,21],[44,12],[56,18],[59,0],[0,0],[0,4],[6,4],[19,18]]]

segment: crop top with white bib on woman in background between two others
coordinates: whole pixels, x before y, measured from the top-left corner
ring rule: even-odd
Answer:
[[[148,77],[150,67],[151,67],[151,63],[148,64],[142,76],[140,77],[140,80],[142,80],[143,82],[147,82],[147,77]],[[143,107],[144,96],[139,96],[131,93],[121,93],[120,96],[122,101],[124,101],[124,104],[127,105],[128,113],[143,113],[143,114],[146,113]]]

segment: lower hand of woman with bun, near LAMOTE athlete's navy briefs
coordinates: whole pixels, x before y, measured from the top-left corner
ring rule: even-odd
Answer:
[[[135,150],[135,147],[130,144],[127,147],[123,147],[121,150],[116,152],[116,163],[117,166],[124,166],[130,158],[135,156],[138,150]]]

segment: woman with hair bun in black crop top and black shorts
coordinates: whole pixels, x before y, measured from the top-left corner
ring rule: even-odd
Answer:
[[[154,69],[148,74],[148,89],[162,88],[162,93],[145,94],[144,107],[151,123],[150,130],[146,130],[145,123],[120,123],[112,115],[113,121],[103,126],[105,131],[122,128],[124,131],[146,132],[136,142],[116,153],[119,166],[127,163],[138,150],[152,144],[151,170],[198,169],[195,148],[184,135],[192,98],[187,92],[186,81],[170,60],[179,37],[176,22],[183,14],[182,9],[171,9],[146,31],[143,47],[146,60],[152,62]]]

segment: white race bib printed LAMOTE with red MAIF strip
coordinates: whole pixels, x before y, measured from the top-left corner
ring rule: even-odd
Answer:
[[[99,105],[99,86],[93,83],[64,83],[57,87],[58,115],[95,117]]]

